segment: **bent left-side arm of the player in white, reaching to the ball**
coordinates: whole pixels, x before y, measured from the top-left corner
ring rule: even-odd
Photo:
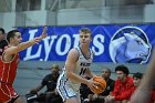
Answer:
[[[79,59],[79,53],[76,49],[72,49],[66,58],[65,68],[66,68],[66,75],[71,81],[76,81],[80,83],[87,84],[87,80],[83,79],[82,76],[75,74],[73,70],[75,69],[76,60]]]

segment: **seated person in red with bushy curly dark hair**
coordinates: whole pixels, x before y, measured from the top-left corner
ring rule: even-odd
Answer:
[[[122,103],[126,99],[124,93],[133,87],[133,78],[128,76],[128,69],[125,65],[115,68],[117,80],[115,81],[114,91],[105,97],[106,103]]]

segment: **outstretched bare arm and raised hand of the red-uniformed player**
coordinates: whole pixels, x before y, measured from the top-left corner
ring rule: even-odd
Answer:
[[[22,50],[24,50],[24,49],[38,43],[38,42],[40,42],[45,37],[46,37],[46,27],[43,29],[43,32],[42,32],[42,34],[40,37],[34,38],[33,40],[30,40],[30,41],[27,41],[27,42],[22,42],[17,47],[8,48],[4,52],[8,55],[18,53],[18,52],[20,52],[20,51],[22,51]]]

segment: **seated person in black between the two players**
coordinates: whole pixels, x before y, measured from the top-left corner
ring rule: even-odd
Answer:
[[[59,78],[59,65],[53,64],[51,69],[51,73],[45,75],[41,84],[39,84],[35,89],[30,90],[30,93],[38,94],[39,91],[41,91],[44,86],[46,86],[46,91],[44,93],[40,93],[39,96],[33,101],[45,102],[45,101],[51,101],[50,100],[51,95],[58,96],[59,94],[55,92],[58,78]],[[31,103],[33,101],[31,101]]]

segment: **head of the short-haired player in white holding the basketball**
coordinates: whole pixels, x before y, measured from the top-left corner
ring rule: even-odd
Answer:
[[[83,28],[80,30],[80,43],[81,44],[90,44],[92,40],[91,30],[87,28]]]

